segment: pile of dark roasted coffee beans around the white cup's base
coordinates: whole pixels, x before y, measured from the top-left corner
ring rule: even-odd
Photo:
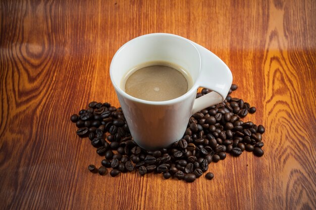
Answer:
[[[233,84],[231,94],[237,89]],[[209,93],[202,89],[196,97]],[[104,159],[96,168],[89,165],[92,173],[105,175],[111,168],[110,175],[137,170],[143,176],[146,173],[163,174],[193,182],[208,170],[208,164],[224,160],[227,154],[240,156],[244,151],[261,157],[264,151],[262,134],[265,127],[255,125],[241,118],[254,113],[255,107],[242,99],[228,95],[224,102],[203,109],[190,117],[187,129],[179,141],[169,148],[146,151],[133,141],[121,108],[110,103],[89,103],[88,109],[73,114],[71,121],[76,123],[77,134],[88,137],[96,153]],[[206,179],[213,179],[213,173],[206,173]]]

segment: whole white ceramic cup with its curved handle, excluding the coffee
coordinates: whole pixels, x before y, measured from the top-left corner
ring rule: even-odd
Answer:
[[[145,62],[166,61],[183,67],[193,86],[168,101],[146,101],[124,92],[127,72]],[[134,141],[146,150],[168,147],[182,138],[195,112],[225,100],[232,84],[228,66],[214,53],[181,36],[153,33],[125,43],[114,55],[110,76]],[[204,87],[210,92],[195,99]]]

